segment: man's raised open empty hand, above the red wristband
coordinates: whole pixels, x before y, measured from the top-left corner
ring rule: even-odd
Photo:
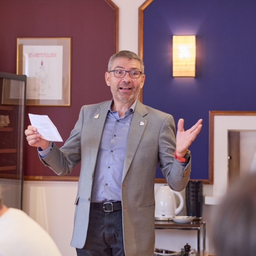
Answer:
[[[176,135],[176,154],[179,157],[184,157],[188,150],[189,145],[196,139],[197,135],[202,129],[203,119],[199,119],[195,125],[193,125],[187,131],[184,130],[184,119],[178,121],[178,130]]]

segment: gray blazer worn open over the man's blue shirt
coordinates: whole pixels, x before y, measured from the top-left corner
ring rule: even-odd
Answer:
[[[97,154],[110,101],[81,108],[69,139],[60,149],[54,144],[41,159],[58,175],[67,175],[81,161],[75,200],[74,231],[71,246],[86,242],[90,197]],[[98,118],[94,118],[99,114]],[[145,124],[140,125],[143,121]],[[126,256],[149,256],[155,245],[154,184],[158,162],[169,186],[185,188],[190,162],[182,166],[174,159],[175,122],[171,115],[137,101],[127,140],[122,175],[123,237]]]

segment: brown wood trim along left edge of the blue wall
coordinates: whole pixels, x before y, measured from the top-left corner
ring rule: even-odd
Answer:
[[[146,9],[147,6],[149,6],[153,0],[146,0],[140,7],[139,7],[139,49],[138,53],[141,59],[143,60],[143,18],[144,18],[144,10]],[[143,88],[140,90],[138,99],[140,102],[142,102],[143,98]],[[158,182],[158,183],[163,183],[163,182]],[[166,182],[165,182],[166,183]]]

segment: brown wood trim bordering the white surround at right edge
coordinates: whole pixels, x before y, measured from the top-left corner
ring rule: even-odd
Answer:
[[[214,117],[256,116],[256,111],[209,111],[209,183],[214,184]]]

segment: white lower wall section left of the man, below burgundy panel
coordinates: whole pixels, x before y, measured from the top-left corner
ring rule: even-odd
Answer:
[[[77,182],[25,181],[23,210],[53,238],[63,256],[76,256],[70,246]]]

